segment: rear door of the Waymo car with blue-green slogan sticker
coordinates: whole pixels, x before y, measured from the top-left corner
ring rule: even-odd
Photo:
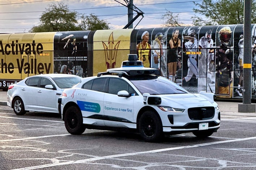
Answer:
[[[77,104],[83,115],[83,123],[104,126],[103,98],[107,78],[96,78],[75,89]]]

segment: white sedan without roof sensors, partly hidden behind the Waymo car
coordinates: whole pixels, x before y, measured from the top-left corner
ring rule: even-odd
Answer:
[[[70,74],[33,75],[12,84],[7,92],[7,105],[17,115],[27,111],[58,113],[58,98],[62,91],[81,81],[81,77]]]

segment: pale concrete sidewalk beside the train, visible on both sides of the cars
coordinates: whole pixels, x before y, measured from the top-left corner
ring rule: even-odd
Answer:
[[[0,90],[0,106],[7,106],[7,92]],[[253,116],[256,117],[256,112],[254,113],[242,113],[238,112],[238,104],[243,104],[242,102],[222,102],[217,101],[222,118],[238,118],[243,116]]]

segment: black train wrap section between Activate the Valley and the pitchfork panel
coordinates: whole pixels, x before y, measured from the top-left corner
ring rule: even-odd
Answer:
[[[54,73],[86,76],[87,38],[90,31],[56,32]]]

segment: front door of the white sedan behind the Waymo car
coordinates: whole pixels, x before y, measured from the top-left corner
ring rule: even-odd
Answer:
[[[53,89],[45,88],[46,85],[52,85]],[[38,109],[41,111],[58,113],[58,97],[61,96],[62,91],[57,91],[55,84],[46,77],[40,79],[38,91]]]

